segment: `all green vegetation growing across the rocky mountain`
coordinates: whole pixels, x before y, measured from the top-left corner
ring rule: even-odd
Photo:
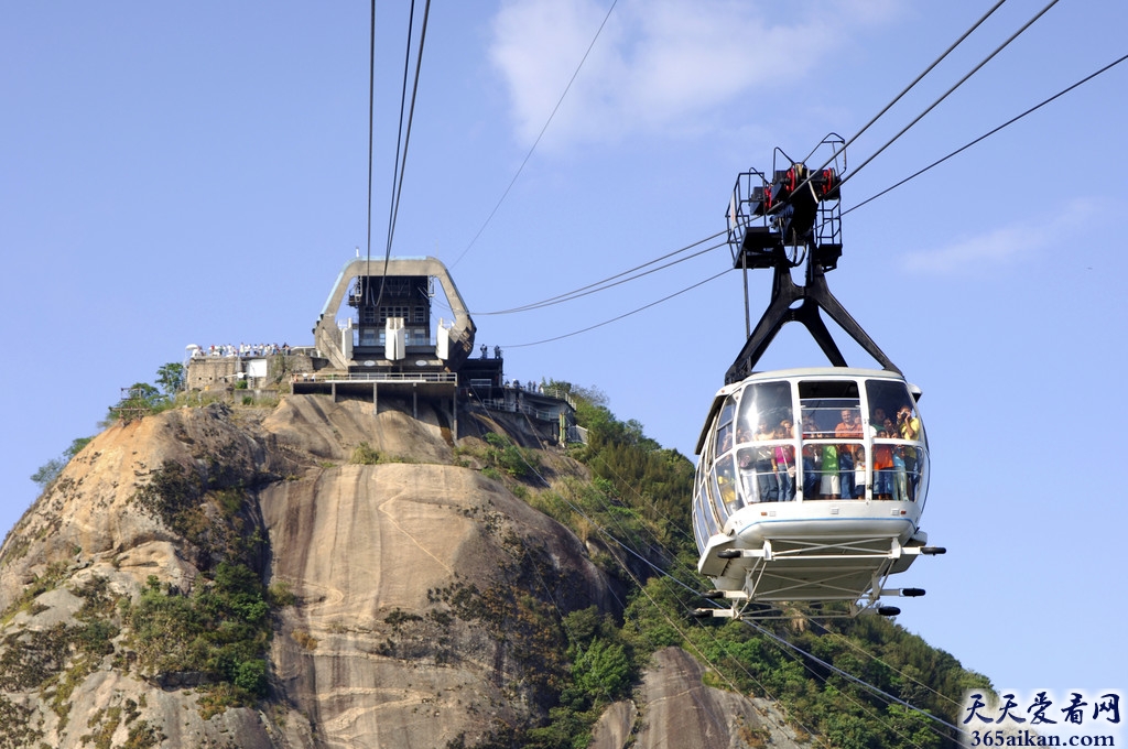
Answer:
[[[131,414],[168,407],[183,371],[166,365],[158,370],[158,382],[164,393],[138,384],[111,416],[127,421]],[[499,673],[504,667],[506,677],[518,675],[503,688],[513,704],[529,707],[529,717],[496,720],[477,749],[587,747],[599,715],[610,703],[632,696],[652,654],[667,646],[685,647],[699,658],[708,668],[710,686],[779,700],[794,716],[794,726],[814,734],[819,744],[957,746],[933,732],[934,725],[917,713],[875,698],[774,638],[958,722],[954,713],[964,689],[986,687],[987,679],[890,620],[826,619],[804,606],[793,609],[794,620],[757,627],[691,619],[688,613],[702,605],[696,591],[708,584],[695,571],[697,552],[689,532],[691,462],[647,438],[640,423],[616,418],[598,390],[567,382],[548,387],[570,393],[578,404],[588,441],[572,446],[569,455],[585,466],[590,479],[578,477],[581,472],[552,475],[539,451],[503,434],[487,434],[481,444],[460,448],[457,455],[472,458],[484,475],[575,531],[592,561],[615,579],[626,603],[610,614],[588,606],[589,600],[575,594],[573,571],[559,570],[547,549],[503,531],[497,512],[467,510],[485,510],[487,531],[500,535],[499,546],[509,558],[496,579],[509,582],[483,588],[456,580],[429,591],[433,608],[428,611],[388,613],[384,624],[390,634],[380,653],[444,666],[465,657],[452,636],[457,622],[494,637],[504,660]],[[76,440],[33,479],[47,486],[83,444]],[[111,596],[104,580],[91,579],[74,591],[83,599],[76,623],[12,633],[0,641],[0,690],[38,690],[65,724],[73,690],[112,659],[116,668],[135,668],[159,684],[196,687],[205,717],[266,696],[274,613],[296,601],[284,584],[267,590],[262,582],[268,549],[254,495],[277,477],[256,473],[233,458],[238,455],[232,447],[194,455],[187,465],[167,461],[133,496],[138,511],[185,539],[183,552],[202,572],[191,591],[150,576],[140,597],[130,601]],[[393,459],[362,442],[350,462]],[[541,478],[546,473],[553,478],[550,487]],[[19,611],[42,610],[36,599],[62,584],[67,574],[67,563],[47,567],[0,613],[0,624]],[[294,631],[292,636],[306,650],[318,647],[308,632]],[[160,743],[164,737],[135,720],[140,713],[130,702],[95,715],[82,741],[108,746],[124,724],[130,726],[126,746]],[[758,729],[741,730],[749,746],[765,741]],[[34,746],[41,738],[33,713],[0,696],[0,749]],[[466,746],[465,737],[448,744]]]

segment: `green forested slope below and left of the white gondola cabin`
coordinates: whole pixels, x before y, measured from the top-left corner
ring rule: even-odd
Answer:
[[[622,422],[607,408],[598,390],[550,382],[570,393],[578,404],[578,422],[588,430],[588,442],[570,455],[583,462],[591,482],[558,481],[528,501],[572,528],[597,550],[593,561],[629,591],[622,619],[581,609],[556,613],[554,626],[561,643],[522,642],[526,652],[540,652],[536,667],[545,675],[539,704],[547,715],[536,724],[502,724],[478,749],[493,747],[587,747],[590,729],[602,708],[631,693],[650,655],[676,645],[697,655],[708,667],[711,686],[779,700],[796,716],[793,728],[810,731],[818,743],[836,747],[902,747],[940,749],[958,746],[952,737],[937,735],[937,724],[870,691],[825,666],[803,659],[774,637],[841,669],[919,708],[958,722],[959,703],[970,687],[988,687],[981,675],[966,671],[950,654],[928,646],[895,623],[880,617],[819,618],[807,606],[793,609],[792,620],[750,626],[732,620],[696,620],[689,611],[702,605],[696,591],[707,581],[696,573],[697,549],[689,528],[693,465],[675,450],[662,449],[645,437],[642,425]],[[499,457],[504,440],[490,440]],[[619,546],[629,547],[628,554]],[[666,574],[655,573],[655,567]],[[548,567],[550,570],[550,566]],[[550,589],[553,583],[530,580],[523,590]],[[461,591],[444,596],[461,618],[488,611],[491,591],[473,591],[473,609],[462,605]],[[536,605],[519,603],[530,611]],[[496,605],[500,606],[500,605]],[[823,609],[826,611],[826,609]],[[519,615],[520,613],[518,613]],[[510,618],[495,626],[512,626]],[[479,614],[478,616],[485,616]],[[505,629],[508,633],[509,629]],[[539,647],[539,651],[538,651]],[[546,650],[547,649],[547,650]],[[553,658],[547,651],[555,653]],[[927,685],[927,686],[925,686]],[[756,730],[743,726],[749,740],[763,742]],[[465,739],[452,741],[452,749]],[[754,744],[755,746],[755,744]]]

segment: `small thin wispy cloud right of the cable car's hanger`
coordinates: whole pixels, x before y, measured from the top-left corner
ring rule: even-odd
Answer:
[[[961,238],[936,249],[906,253],[901,262],[916,273],[952,274],[968,268],[1006,265],[1049,247],[1069,246],[1078,226],[1104,212],[1099,200],[1074,200],[1059,213],[1041,222],[1023,221],[978,237]]]

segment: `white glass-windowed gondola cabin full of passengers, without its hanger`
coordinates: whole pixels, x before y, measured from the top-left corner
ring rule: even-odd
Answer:
[[[918,396],[896,373],[846,368],[722,388],[697,442],[698,571],[726,598],[876,601],[928,548]]]

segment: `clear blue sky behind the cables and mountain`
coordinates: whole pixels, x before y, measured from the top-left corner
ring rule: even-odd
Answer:
[[[422,3],[421,3],[422,5]],[[852,143],[861,166],[1042,8],[1011,0]],[[435,3],[393,253],[434,255],[506,374],[598,386],[691,455],[744,338],[720,248],[567,292],[724,229],[737,174],[854,135],[986,2]],[[368,3],[0,10],[0,527],[28,476],[190,343],[309,343],[367,249]],[[422,9],[416,15],[416,21]],[[1125,54],[1128,8],[1063,0],[844,188],[849,209]],[[377,9],[382,256],[406,3]],[[1121,65],[845,219],[831,290],[925,393],[923,527],[945,557],[899,622],[996,686],[1123,689],[1128,261]],[[851,174],[849,171],[847,174]],[[473,244],[472,244],[473,243]],[[457,264],[455,263],[458,261]],[[754,318],[768,274],[750,279]],[[766,368],[822,364],[785,329]],[[847,354],[849,358],[849,354]],[[858,363],[867,363],[858,361]],[[687,497],[688,501],[688,497]]]

